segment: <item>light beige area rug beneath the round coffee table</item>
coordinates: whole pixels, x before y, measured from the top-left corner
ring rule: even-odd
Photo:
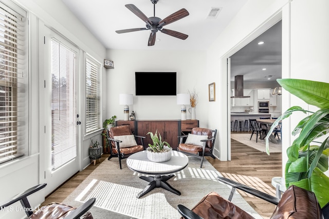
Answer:
[[[96,203],[90,209],[94,218],[180,218],[176,210],[178,204],[192,208],[202,197],[215,191],[228,197],[230,188],[217,182],[221,173],[205,159],[200,168],[200,158],[189,157],[189,164],[172,177],[168,183],[181,192],[176,195],[162,188],[155,188],[137,198],[138,192],[149,183],[139,178],[141,174],[131,171],[122,161],[119,168],[117,158],[103,161],[87,178],[64,200],[64,204],[80,206],[90,197],[96,197]],[[255,218],[262,218],[243,199],[235,193],[232,202]]]

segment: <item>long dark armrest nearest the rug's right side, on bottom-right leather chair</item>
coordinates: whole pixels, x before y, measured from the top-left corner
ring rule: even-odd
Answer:
[[[249,194],[252,194],[256,197],[259,197],[259,198],[262,198],[262,200],[265,200],[269,203],[272,203],[272,204],[275,204],[275,205],[278,205],[280,199],[277,198],[277,197],[274,197],[272,195],[269,195],[269,194],[266,194],[264,192],[261,192],[257,189],[253,189],[249,186],[246,186],[246,185],[243,185],[241,183],[238,183],[238,182],[235,182],[235,181],[232,181],[230,180],[229,178],[225,178],[225,177],[222,177],[222,176],[217,176],[217,181],[219,182],[222,182],[222,183],[225,183],[229,186],[232,186],[232,190],[231,190],[231,195],[230,195],[230,198],[228,198],[229,201],[231,201],[230,199],[232,199],[233,197],[233,193],[234,193],[234,190],[235,189],[240,189],[244,192],[247,192]],[[234,190],[233,190],[234,189]],[[232,193],[233,191],[233,193]]]

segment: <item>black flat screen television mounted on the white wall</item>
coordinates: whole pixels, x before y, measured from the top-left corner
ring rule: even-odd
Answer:
[[[136,96],[176,95],[176,72],[135,72]]]

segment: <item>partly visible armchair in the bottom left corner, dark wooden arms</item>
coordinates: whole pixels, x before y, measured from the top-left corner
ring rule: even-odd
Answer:
[[[26,215],[29,219],[32,218],[47,218],[47,219],[73,219],[73,218],[83,218],[83,219],[93,219],[92,213],[88,210],[93,207],[95,204],[96,198],[90,198],[87,202],[81,205],[79,208],[71,207],[68,205],[60,203],[50,203],[42,208],[39,208],[38,211],[32,212],[27,196],[33,194],[40,189],[46,187],[47,184],[40,184],[34,186],[23,193],[19,193],[9,199],[9,201],[0,204],[0,209],[6,209],[8,206],[14,204],[15,202],[20,201],[25,210]],[[38,209],[38,208],[37,208]]]

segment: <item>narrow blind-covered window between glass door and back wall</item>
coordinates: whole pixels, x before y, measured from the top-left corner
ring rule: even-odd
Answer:
[[[100,123],[100,75],[101,65],[93,58],[86,58],[86,133],[101,128]]]

